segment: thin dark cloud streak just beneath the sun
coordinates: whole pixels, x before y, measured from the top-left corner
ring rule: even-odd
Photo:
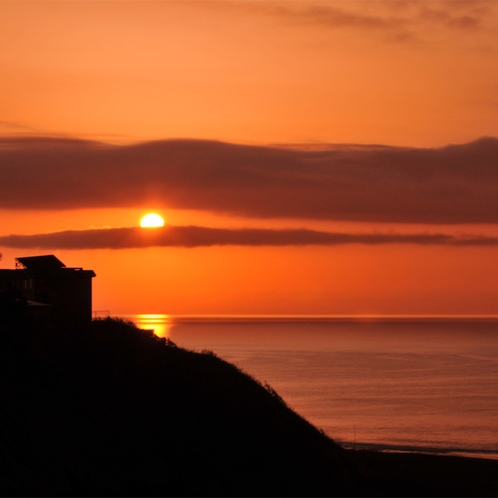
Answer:
[[[421,246],[498,246],[498,237],[457,237],[441,233],[340,233],[307,229],[210,228],[165,226],[67,230],[0,237],[0,247],[25,249],[132,249],[209,246],[334,246],[342,244],[416,244]]]

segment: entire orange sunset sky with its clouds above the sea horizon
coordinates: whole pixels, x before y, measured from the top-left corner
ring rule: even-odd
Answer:
[[[0,267],[113,315],[498,314],[497,58],[494,1],[0,0]]]

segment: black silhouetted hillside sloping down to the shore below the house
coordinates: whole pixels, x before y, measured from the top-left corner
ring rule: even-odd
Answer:
[[[3,496],[498,494],[498,462],[346,452],[271,387],[120,320],[0,326],[0,404]]]

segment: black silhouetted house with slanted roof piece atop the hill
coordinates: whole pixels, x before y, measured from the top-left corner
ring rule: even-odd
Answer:
[[[15,269],[0,270],[0,293],[22,300],[37,320],[82,324],[92,319],[93,277],[53,255],[16,258]]]

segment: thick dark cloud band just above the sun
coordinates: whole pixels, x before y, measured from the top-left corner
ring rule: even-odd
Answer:
[[[498,139],[322,150],[167,140],[0,140],[0,208],[154,204],[237,216],[498,223]]]

